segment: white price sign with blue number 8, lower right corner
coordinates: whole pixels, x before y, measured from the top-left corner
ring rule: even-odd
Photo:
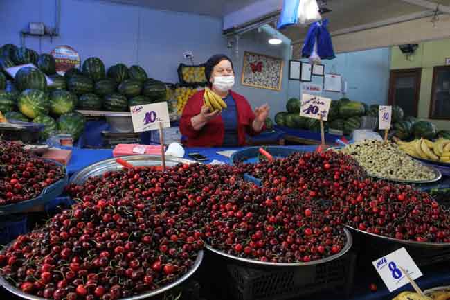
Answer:
[[[419,267],[417,267],[413,258],[409,256],[404,247],[377,259],[377,261],[372,261],[372,265],[377,269],[379,276],[383,279],[389,292],[393,292],[397,288],[402,288],[402,286],[409,283],[408,278],[400,270],[400,267],[408,272],[408,275],[413,280],[422,276]]]

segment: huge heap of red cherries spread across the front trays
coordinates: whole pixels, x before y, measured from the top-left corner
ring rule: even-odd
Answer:
[[[428,194],[372,182],[332,151],[254,165],[125,168],[67,190],[77,204],[0,255],[2,276],[47,299],[115,300],[161,288],[186,274],[204,243],[259,261],[316,261],[345,247],[344,223],[450,242],[450,214]]]

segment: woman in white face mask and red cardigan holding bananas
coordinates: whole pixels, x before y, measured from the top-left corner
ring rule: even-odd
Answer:
[[[204,105],[204,91],[194,94],[181,116],[180,131],[188,147],[236,147],[245,145],[246,134],[264,130],[269,105],[251,110],[246,98],[231,91],[235,82],[233,63],[226,55],[214,55],[206,62],[208,85],[224,99],[227,108],[211,112]]]

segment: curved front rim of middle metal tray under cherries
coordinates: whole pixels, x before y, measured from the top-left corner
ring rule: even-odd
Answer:
[[[206,249],[210,250],[211,252],[215,252],[219,255],[226,256],[235,261],[240,261],[243,263],[250,263],[253,265],[266,265],[266,266],[271,266],[271,267],[302,267],[302,266],[306,266],[306,265],[320,265],[321,263],[327,263],[329,261],[334,261],[336,258],[343,256],[345,253],[348,252],[348,250],[350,250],[350,248],[352,247],[352,243],[353,243],[352,233],[350,233],[350,231],[348,229],[346,229],[345,227],[343,227],[343,231],[345,233],[345,238],[347,238],[347,242],[345,243],[345,246],[343,247],[341,252],[334,254],[332,256],[328,256],[327,258],[319,259],[318,261],[310,261],[308,263],[269,263],[269,262],[264,262],[264,261],[255,261],[255,260],[249,259],[249,258],[240,258],[237,256],[233,256],[231,254],[226,254],[225,252],[214,249],[210,245],[205,245],[205,247],[206,247]]]

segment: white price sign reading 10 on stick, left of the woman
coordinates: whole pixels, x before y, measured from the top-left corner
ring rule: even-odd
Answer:
[[[167,102],[136,105],[129,107],[132,112],[134,132],[143,132],[159,129],[159,123],[163,128],[170,127],[170,118]]]

